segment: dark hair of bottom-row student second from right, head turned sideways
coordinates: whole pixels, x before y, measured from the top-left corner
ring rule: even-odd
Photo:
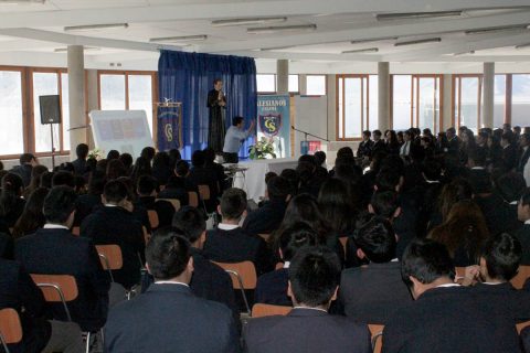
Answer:
[[[455,278],[455,266],[445,245],[431,239],[413,240],[401,260],[401,277],[411,287],[409,276],[427,285],[441,277]]]

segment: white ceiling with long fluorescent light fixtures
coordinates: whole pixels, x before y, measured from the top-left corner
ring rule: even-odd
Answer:
[[[20,0],[22,1],[22,0]],[[378,13],[464,10],[453,18],[378,21]],[[247,26],[211,25],[212,20],[287,17],[271,25],[316,24],[310,32],[247,34]],[[64,26],[128,23],[127,29],[64,32]],[[354,63],[530,63],[530,30],[466,35],[466,30],[530,24],[530,0],[46,0],[1,4],[0,65],[64,63],[54,50],[68,44],[97,47],[85,52],[87,66],[125,67],[150,63],[160,47],[247,55],[264,63],[344,67]],[[259,25],[257,25],[259,26]],[[193,45],[149,43],[151,38],[205,34]],[[399,38],[398,40],[392,38]],[[439,43],[394,46],[396,42],[441,38]],[[351,41],[386,39],[359,44]],[[377,47],[377,53],[341,54]],[[474,52],[473,54],[469,54]],[[467,53],[467,54],[466,54]],[[19,63],[13,63],[18,61]],[[42,64],[39,64],[42,63]]]

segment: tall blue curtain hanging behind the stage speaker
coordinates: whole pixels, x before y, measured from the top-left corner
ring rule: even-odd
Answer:
[[[158,61],[160,101],[182,103],[182,158],[191,159],[193,151],[208,143],[208,92],[213,81],[223,81],[226,96],[226,129],[234,116],[245,124],[256,119],[256,64],[252,57],[161,51]],[[250,138],[240,149],[240,158],[248,157]],[[160,148],[160,146],[159,146]]]

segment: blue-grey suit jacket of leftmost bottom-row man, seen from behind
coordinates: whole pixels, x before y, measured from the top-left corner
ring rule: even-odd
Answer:
[[[105,352],[240,352],[232,314],[182,285],[153,285],[113,308]]]

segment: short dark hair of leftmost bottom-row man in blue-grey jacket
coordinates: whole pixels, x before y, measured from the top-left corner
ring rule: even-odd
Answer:
[[[180,276],[190,260],[190,244],[182,229],[165,227],[156,231],[146,247],[149,272],[155,279]]]

